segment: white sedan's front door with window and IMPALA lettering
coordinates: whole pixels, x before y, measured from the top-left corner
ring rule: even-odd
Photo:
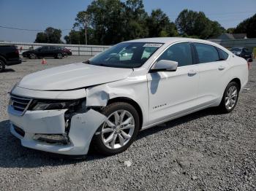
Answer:
[[[157,71],[147,74],[149,119],[151,123],[166,120],[192,111],[197,107],[199,75],[193,65],[191,45],[173,44],[157,61],[178,62],[176,71]]]

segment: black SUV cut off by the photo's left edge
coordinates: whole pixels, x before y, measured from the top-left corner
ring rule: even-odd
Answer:
[[[5,66],[21,63],[18,47],[14,45],[0,46],[0,72],[4,71]]]

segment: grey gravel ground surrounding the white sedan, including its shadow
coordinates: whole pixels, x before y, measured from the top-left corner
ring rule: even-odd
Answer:
[[[256,63],[232,113],[206,109],[144,130],[119,155],[72,160],[21,147],[8,91],[33,71],[83,60],[26,60],[0,74],[0,190],[256,190]]]

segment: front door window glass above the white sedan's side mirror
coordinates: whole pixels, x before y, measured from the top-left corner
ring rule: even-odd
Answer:
[[[176,61],[178,62],[178,66],[192,65],[193,61],[190,44],[187,42],[173,44],[157,59],[157,61],[160,60]]]

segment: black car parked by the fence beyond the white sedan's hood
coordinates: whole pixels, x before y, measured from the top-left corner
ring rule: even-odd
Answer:
[[[44,46],[44,47],[38,47],[35,50],[29,50],[22,53],[24,58],[63,58],[65,55],[67,55],[67,52],[60,49],[59,47],[53,47],[53,46]]]

